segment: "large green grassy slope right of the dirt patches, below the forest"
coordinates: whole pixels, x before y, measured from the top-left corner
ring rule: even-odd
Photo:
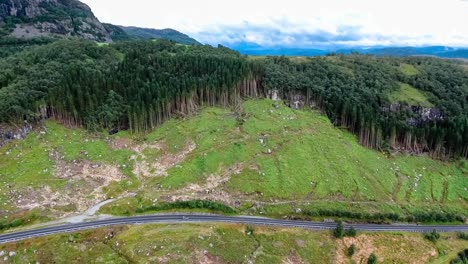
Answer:
[[[189,120],[164,124],[148,142],[165,139],[170,151],[176,151],[193,140],[197,148],[155,183],[181,188],[243,163],[248,166],[226,188],[247,196],[260,193],[264,201],[424,204],[461,206],[466,211],[466,162],[387,157],[360,146],[353,135],[334,128],[317,112],[277,109],[272,104],[246,102],[249,117],[240,129],[223,109],[206,109]]]

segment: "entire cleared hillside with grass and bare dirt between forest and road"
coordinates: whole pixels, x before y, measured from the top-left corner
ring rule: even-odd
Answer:
[[[7,221],[44,221],[113,197],[102,212],[209,200],[281,217],[456,221],[468,213],[466,161],[382,154],[319,112],[272,100],[241,109],[205,108],[144,138],[48,121],[0,149],[0,211]]]

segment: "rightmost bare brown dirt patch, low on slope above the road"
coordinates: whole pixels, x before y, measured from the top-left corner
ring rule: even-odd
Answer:
[[[237,207],[240,202],[235,200],[229,193],[220,188],[224,185],[232,175],[240,174],[244,169],[243,163],[238,163],[229,167],[221,175],[210,175],[203,184],[190,184],[189,186],[177,190],[168,198],[172,202],[175,201],[188,201],[194,199],[220,201],[224,204]]]

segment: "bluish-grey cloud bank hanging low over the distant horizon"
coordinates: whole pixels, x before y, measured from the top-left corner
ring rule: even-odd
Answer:
[[[294,28],[294,31],[289,30]],[[244,22],[240,25],[217,25],[192,34],[198,40],[216,45],[258,45],[262,47],[333,49],[357,46],[468,46],[468,37],[454,35],[443,40],[431,34],[369,33],[362,26],[337,26],[334,30],[308,28],[287,20],[272,21],[268,25]]]

